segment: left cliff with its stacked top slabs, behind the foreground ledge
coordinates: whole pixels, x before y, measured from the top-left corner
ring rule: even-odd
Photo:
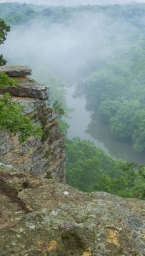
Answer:
[[[43,128],[42,138],[35,140],[31,136],[24,143],[19,142],[18,134],[1,131],[0,161],[32,175],[47,175],[52,180],[65,182],[64,136],[60,132],[56,114],[48,106],[48,87],[27,77],[31,74],[28,67],[3,66],[0,72],[6,72],[20,84],[18,87],[1,88],[0,93],[9,92],[13,100],[24,106],[25,113]]]

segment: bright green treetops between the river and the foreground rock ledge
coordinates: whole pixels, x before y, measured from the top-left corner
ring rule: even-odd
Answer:
[[[78,137],[67,140],[66,180],[81,191],[106,191],[124,197],[132,196],[130,179],[123,172],[125,162],[112,159],[91,141]]]

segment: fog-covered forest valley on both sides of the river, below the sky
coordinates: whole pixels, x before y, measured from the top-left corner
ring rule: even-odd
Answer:
[[[1,3],[11,27],[1,52],[9,65],[28,65],[52,91],[50,105],[67,108],[66,86],[85,97],[92,124],[106,124],[114,138],[145,151],[145,4],[37,6]],[[67,138],[67,183],[82,191],[145,197],[145,168],[113,159],[92,141]],[[66,120],[66,119],[65,119]]]

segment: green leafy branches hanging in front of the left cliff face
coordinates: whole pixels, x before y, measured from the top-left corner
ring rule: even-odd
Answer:
[[[41,127],[35,125],[23,111],[24,108],[14,102],[9,93],[4,93],[0,99],[0,129],[18,132],[20,142],[24,142],[31,135],[34,138],[41,137]]]

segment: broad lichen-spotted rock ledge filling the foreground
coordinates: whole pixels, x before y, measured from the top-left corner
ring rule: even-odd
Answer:
[[[144,256],[144,201],[0,167],[0,255]]]

